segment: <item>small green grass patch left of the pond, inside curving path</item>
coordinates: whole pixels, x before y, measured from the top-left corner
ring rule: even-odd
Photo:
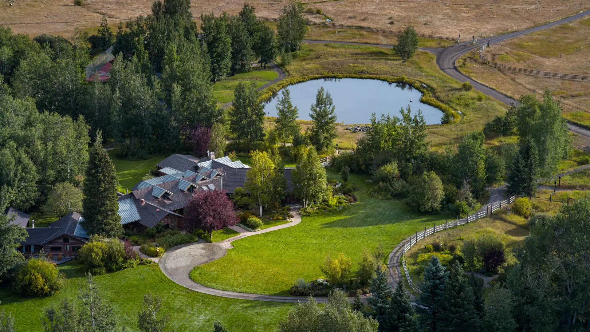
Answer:
[[[252,71],[238,71],[233,76],[228,76],[225,80],[212,84],[213,95],[217,99],[219,106],[229,103],[234,99],[235,87],[240,82],[255,82],[256,87],[271,82],[278,77],[278,73],[270,67],[254,67]]]

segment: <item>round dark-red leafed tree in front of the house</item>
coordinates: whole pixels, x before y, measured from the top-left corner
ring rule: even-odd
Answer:
[[[189,229],[202,229],[211,234],[214,230],[234,226],[240,222],[234,212],[234,203],[225,191],[199,190],[186,207],[186,224]]]

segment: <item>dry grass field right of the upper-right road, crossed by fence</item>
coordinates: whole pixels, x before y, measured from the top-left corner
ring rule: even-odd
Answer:
[[[590,76],[590,46],[584,47],[590,44],[589,27],[590,18],[579,19],[491,45],[483,54],[487,60],[507,66]],[[549,87],[562,101],[564,118],[590,127],[590,83],[499,70],[477,60],[478,54],[468,54],[457,61],[457,67],[473,79],[514,98],[526,93],[540,96]]]

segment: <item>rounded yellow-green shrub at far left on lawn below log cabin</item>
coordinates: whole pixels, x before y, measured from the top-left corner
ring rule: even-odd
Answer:
[[[22,263],[14,280],[14,288],[22,295],[53,295],[64,286],[65,275],[43,253]]]

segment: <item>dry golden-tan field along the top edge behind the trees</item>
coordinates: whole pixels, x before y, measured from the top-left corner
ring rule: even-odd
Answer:
[[[248,1],[260,17],[278,17],[289,0]],[[366,25],[401,30],[414,25],[418,32],[454,37],[462,34],[485,36],[510,30],[520,30],[541,22],[573,14],[590,7],[590,0],[342,0],[309,1],[307,8],[322,9],[323,14],[337,23]],[[9,6],[12,4],[12,6]],[[60,34],[69,37],[75,27],[95,27],[102,15],[110,22],[123,21],[150,11],[152,0],[84,0],[74,6],[73,0],[2,0],[0,24],[13,31],[30,34]],[[227,11],[237,13],[243,0],[194,1],[192,12]],[[309,14],[314,21],[324,17]],[[393,24],[391,24],[393,23]]]

